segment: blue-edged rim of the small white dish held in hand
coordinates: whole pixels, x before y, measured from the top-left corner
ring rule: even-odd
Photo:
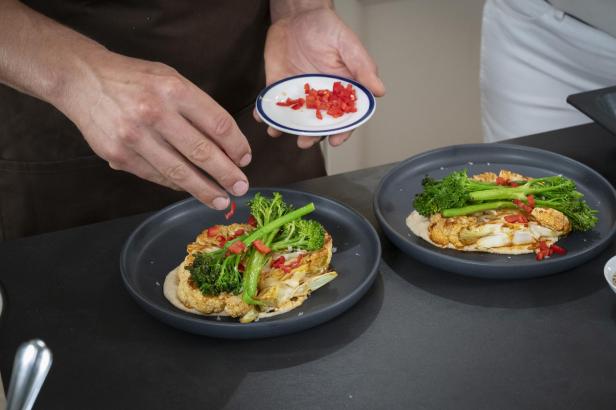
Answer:
[[[323,130],[303,130],[303,129],[299,129],[299,128],[293,128],[293,127],[287,127],[286,125],[280,124],[279,122],[274,121],[270,116],[268,116],[265,113],[265,110],[263,109],[263,96],[265,96],[265,94],[267,94],[267,92],[272,89],[273,87],[277,86],[278,84],[284,83],[286,81],[289,80],[294,80],[297,78],[310,78],[310,77],[326,77],[326,78],[333,78],[336,80],[340,80],[340,81],[345,81],[347,83],[351,83],[353,84],[353,86],[359,88],[360,90],[362,90],[366,96],[368,97],[368,110],[366,111],[366,113],[364,115],[361,116],[361,118],[359,118],[358,120],[352,122],[351,124],[347,124],[343,127],[336,127],[336,128],[328,128],[328,129],[323,129]],[[315,134],[319,134],[319,135],[328,135],[328,134],[334,134],[336,132],[340,132],[340,131],[349,131],[352,130],[354,128],[357,128],[359,125],[363,124],[368,118],[370,118],[372,116],[372,114],[374,114],[374,109],[376,108],[376,100],[374,98],[374,95],[372,95],[372,93],[370,92],[370,90],[368,90],[366,87],[364,87],[362,84],[358,83],[357,81],[350,79],[350,78],[346,78],[346,77],[341,77],[338,75],[333,75],[333,74],[299,74],[299,75],[295,75],[292,77],[286,77],[283,78],[282,80],[278,80],[275,83],[272,83],[270,85],[268,85],[267,87],[265,87],[263,90],[261,90],[261,92],[259,93],[259,95],[257,96],[257,101],[255,103],[255,106],[257,108],[257,112],[259,113],[259,115],[261,116],[261,118],[269,125],[273,126],[274,128],[279,129],[280,131],[291,131],[293,133],[299,133],[301,135],[315,135]]]

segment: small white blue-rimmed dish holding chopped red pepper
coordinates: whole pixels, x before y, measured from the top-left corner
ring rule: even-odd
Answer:
[[[331,90],[336,81],[342,85],[352,84],[357,93],[357,112],[333,118],[323,112],[323,119],[306,106],[299,110],[276,105],[287,98],[305,98],[304,84],[310,87]],[[292,135],[322,137],[350,131],[364,124],[374,114],[376,102],[372,93],[357,81],[330,74],[301,74],[277,81],[263,89],[257,96],[257,114],[272,128]]]

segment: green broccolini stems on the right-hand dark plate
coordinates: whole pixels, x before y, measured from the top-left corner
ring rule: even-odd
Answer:
[[[426,177],[424,190],[413,201],[423,216],[442,213],[446,218],[469,215],[492,209],[516,208],[511,201],[527,202],[533,195],[536,206],[556,209],[569,218],[576,231],[591,230],[597,223],[597,211],[583,200],[575,183],[563,176],[550,176],[530,181],[519,181],[519,186],[500,186],[474,181],[466,170],[453,172],[440,181]]]

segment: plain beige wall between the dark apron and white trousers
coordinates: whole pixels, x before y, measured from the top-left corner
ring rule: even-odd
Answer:
[[[479,45],[484,0],[338,0],[379,65],[387,95],[338,148],[330,174],[444,145],[481,142]]]

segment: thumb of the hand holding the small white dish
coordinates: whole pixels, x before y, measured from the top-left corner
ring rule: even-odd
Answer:
[[[346,30],[342,38],[340,57],[351,75],[376,97],[385,95],[385,85],[378,76],[377,66],[359,38],[351,30]]]

